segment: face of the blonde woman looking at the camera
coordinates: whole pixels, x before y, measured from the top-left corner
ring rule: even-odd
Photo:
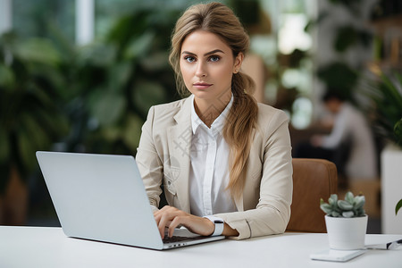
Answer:
[[[231,95],[231,78],[239,71],[243,57],[241,53],[233,57],[230,46],[214,33],[196,30],[181,46],[181,75],[196,99],[227,102]]]

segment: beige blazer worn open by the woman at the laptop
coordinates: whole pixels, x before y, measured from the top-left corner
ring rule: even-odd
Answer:
[[[142,127],[136,161],[154,209],[163,183],[168,204],[190,213],[191,105],[185,98],[153,106]],[[239,231],[232,239],[278,234],[288,225],[293,190],[288,121],[281,110],[258,104],[246,186],[235,200],[238,212],[216,214]]]

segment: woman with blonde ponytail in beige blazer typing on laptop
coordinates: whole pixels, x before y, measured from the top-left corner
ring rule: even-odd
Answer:
[[[288,118],[256,104],[240,71],[249,38],[230,8],[197,4],[177,21],[170,62],[191,95],[149,110],[136,156],[164,237],[182,225],[232,239],[281,233],[290,216]],[[169,205],[158,210],[161,184]]]

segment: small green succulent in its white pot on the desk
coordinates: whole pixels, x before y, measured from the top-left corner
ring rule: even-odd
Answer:
[[[333,194],[325,203],[320,200],[320,208],[326,214],[330,247],[339,250],[353,250],[364,247],[368,216],[364,213],[364,196],[354,196],[352,192],[339,200]]]

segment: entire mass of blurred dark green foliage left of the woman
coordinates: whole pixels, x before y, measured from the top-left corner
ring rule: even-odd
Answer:
[[[12,166],[24,180],[38,168],[37,150],[135,155],[149,107],[180,97],[168,54],[182,10],[136,9],[82,47],[52,24],[47,38],[4,34],[0,190]]]

